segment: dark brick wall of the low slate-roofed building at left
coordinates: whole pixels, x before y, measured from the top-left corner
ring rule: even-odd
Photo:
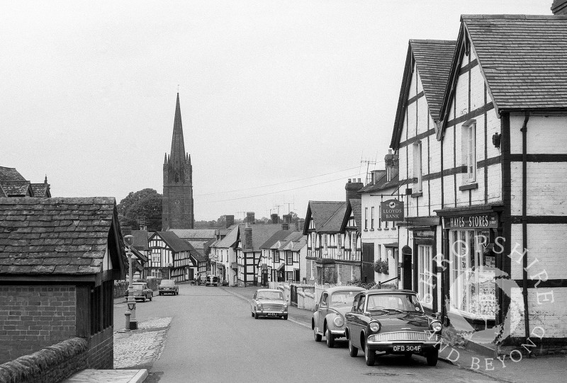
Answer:
[[[0,363],[76,335],[74,286],[0,286]]]

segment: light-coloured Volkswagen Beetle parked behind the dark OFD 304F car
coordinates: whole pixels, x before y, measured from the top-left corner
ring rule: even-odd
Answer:
[[[344,336],[344,314],[352,309],[354,297],[364,288],[357,286],[331,287],[323,290],[311,319],[315,341],[325,336],[327,347],[335,345],[336,338]]]

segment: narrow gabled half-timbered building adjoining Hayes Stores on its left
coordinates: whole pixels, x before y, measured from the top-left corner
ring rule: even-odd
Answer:
[[[435,210],[442,207],[443,175],[454,173],[442,163],[435,132],[454,50],[454,41],[410,40],[391,140],[399,161],[395,193],[405,204],[405,219],[396,222],[400,287],[415,290],[434,312],[442,299],[434,264],[442,228]]]

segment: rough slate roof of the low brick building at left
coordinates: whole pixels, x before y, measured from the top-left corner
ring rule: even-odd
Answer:
[[[0,275],[101,273],[113,227],[125,264],[114,198],[0,198]]]

